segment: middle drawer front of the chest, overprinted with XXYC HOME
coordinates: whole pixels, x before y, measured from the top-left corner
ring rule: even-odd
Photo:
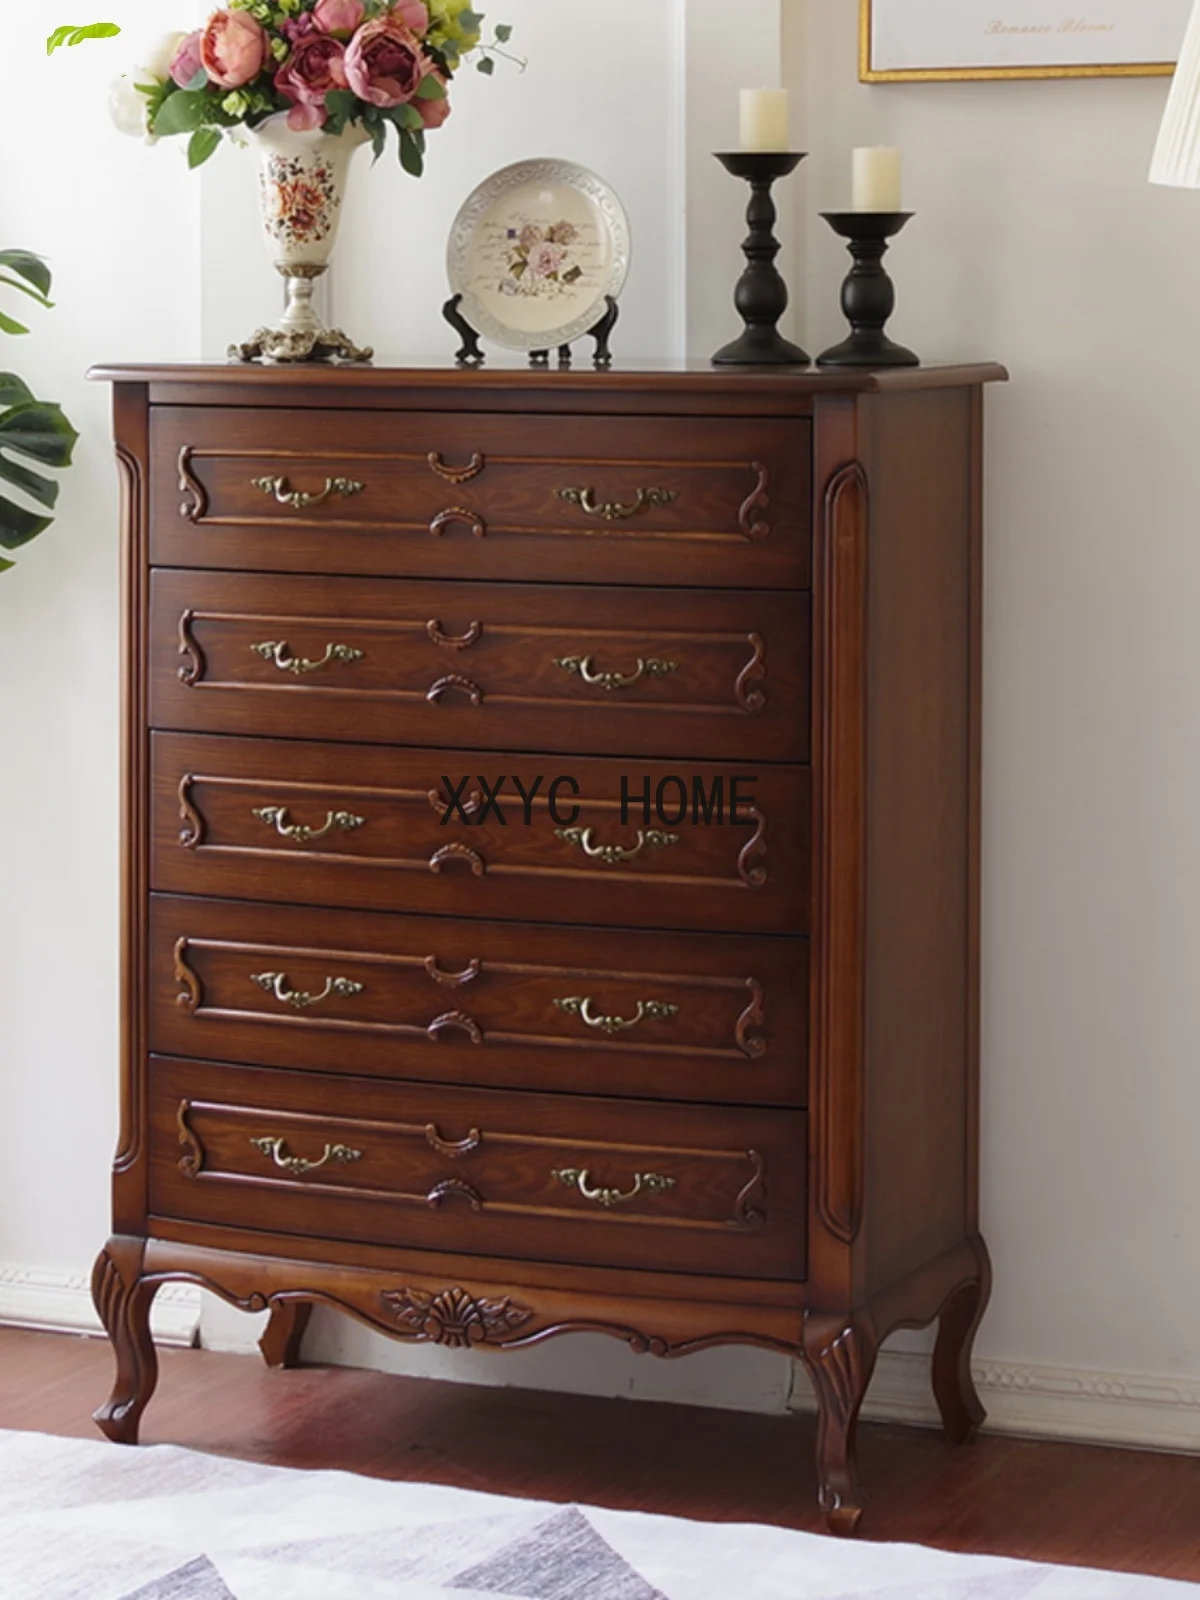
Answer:
[[[808,931],[806,766],[664,766],[174,733],[154,734],[152,765],[150,878],[160,891]],[[624,821],[622,781],[634,798]],[[528,813],[520,792],[531,797]],[[659,795],[662,814],[653,806]]]

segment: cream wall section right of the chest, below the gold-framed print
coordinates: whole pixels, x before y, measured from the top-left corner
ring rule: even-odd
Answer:
[[[866,86],[856,10],[789,6],[808,206],[845,205],[851,146],[899,146],[893,331],[1013,374],[987,402],[979,1347],[1197,1390],[1200,195],[1146,182],[1165,80]],[[845,261],[814,224],[813,349]]]

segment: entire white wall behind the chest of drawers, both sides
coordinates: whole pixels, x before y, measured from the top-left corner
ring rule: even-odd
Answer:
[[[1179,1437],[1200,1442],[1200,197],[1144,181],[1166,86],[866,88],[851,0],[742,0],[736,27],[718,0],[661,0],[650,16],[613,0],[592,32],[562,0],[501,11],[530,70],[462,86],[422,184],[390,157],[355,174],[334,309],[384,357],[448,349],[450,219],[494,166],[546,150],[598,168],[629,206],[619,354],[704,357],[731,336],[744,194],[709,152],[734,138],[736,88],[776,80],[782,11],[813,152],[781,192],[798,334],[819,349],[840,331],[845,254],[816,213],[845,200],[853,144],[896,142],[918,213],[891,256],[896,334],[928,358],[1013,370],[989,397],[987,440],[984,1222],[997,1291],[981,1350],[997,1392],[1053,1389],[1053,1373],[1082,1392],[1080,1370],[1094,1370],[1174,1397],[1176,1414],[1190,1394]],[[611,21],[635,14],[661,61],[630,90]],[[162,3],[122,0],[118,18],[136,38],[162,27]],[[59,397],[83,440],[61,522],[0,578],[0,1290],[11,1264],[86,1272],[115,1138],[117,480],[107,395],[82,373],[219,357],[280,294],[248,154],[189,178],[178,150],[107,130],[126,42],[46,61],[46,18],[13,27],[22,70],[0,134],[0,243],[51,254],[61,304],[0,358]],[[206,1317],[214,1342],[251,1328]],[[562,1341],[459,1362],[333,1318],[314,1325],[310,1354],[771,1410],[790,1384],[786,1362],[755,1352],[654,1363]],[[1045,1406],[1034,1413],[1051,1426]],[[1106,1427],[1160,1437],[1141,1413]]]

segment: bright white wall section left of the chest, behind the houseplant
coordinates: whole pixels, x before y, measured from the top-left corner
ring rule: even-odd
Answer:
[[[194,358],[200,285],[195,190],[110,128],[114,58],[46,58],[54,10],[5,13],[0,245],[50,258],[58,309],[5,291],[34,331],[0,365],[82,438],[59,522],[0,581],[0,1264],[77,1272],[117,1136],[117,470],[83,373]],[[162,0],[122,11],[162,29]]]

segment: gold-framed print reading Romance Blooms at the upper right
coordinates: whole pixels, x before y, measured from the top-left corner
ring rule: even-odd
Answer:
[[[1165,77],[1192,0],[859,0],[864,83]]]

